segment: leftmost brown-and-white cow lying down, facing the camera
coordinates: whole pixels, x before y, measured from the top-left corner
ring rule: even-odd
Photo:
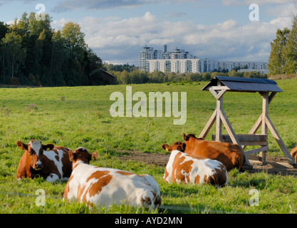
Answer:
[[[28,144],[17,141],[24,154],[16,170],[16,179],[43,177],[47,182],[67,181],[71,175],[69,149],[53,144],[43,145],[39,140],[31,140]]]

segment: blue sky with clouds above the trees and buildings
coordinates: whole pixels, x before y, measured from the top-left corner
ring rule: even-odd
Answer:
[[[80,24],[103,62],[136,66],[143,46],[164,45],[197,58],[267,62],[277,29],[291,28],[297,14],[297,0],[0,0],[0,21],[38,13],[38,4],[56,30]]]

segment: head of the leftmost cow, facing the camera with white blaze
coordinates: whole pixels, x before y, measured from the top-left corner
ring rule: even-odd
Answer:
[[[25,150],[24,153],[28,153],[28,157],[30,158],[26,162],[29,163],[33,170],[41,170],[43,167],[43,151],[53,150],[54,147],[53,144],[42,145],[39,140],[31,140],[28,144],[17,141],[16,145],[19,149]]]

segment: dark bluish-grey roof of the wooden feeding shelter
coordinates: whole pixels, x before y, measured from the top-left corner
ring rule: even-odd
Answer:
[[[277,83],[271,79],[224,76],[215,76],[202,90],[209,90],[212,86],[219,90],[218,85],[226,90],[236,92],[283,92],[283,90],[277,86]]]

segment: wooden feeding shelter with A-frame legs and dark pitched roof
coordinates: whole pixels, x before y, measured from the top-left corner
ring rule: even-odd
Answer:
[[[216,135],[212,135],[213,140],[218,142],[235,143],[239,145],[242,152],[244,152],[244,155],[246,156],[247,165],[251,165],[247,155],[260,152],[259,157],[261,157],[262,164],[264,165],[266,163],[266,152],[269,150],[267,136],[267,131],[269,129],[273,135],[273,138],[276,139],[279,147],[281,147],[283,154],[288,159],[289,164],[295,167],[296,163],[291,157],[290,152],[288,152],[286,145],[283,143],[283,140],[281,140],[281,136],[278,134],[268,115],[269,103],[271,103],[271,100],[273,100],[276,93],[283,92],[281,88],[278,88],[275,81],[262,78],[233,78],[216,76],[212,78],[212,80],[207,84],[207,86],[202,88],[202,90],[209,90],[212,95],[214,95],[214,98],[217,99],[217,108],[209,118],[207,125],[205,125],[202,133],[200,133],[199,138],[205,138],[207,133],[209,133],[210,128],[212,128],[214,122],[217,122]],[[236,135],[234,133],[234,130],[223,109],[223,95],[226,93],[226,91],[249,93],[258,92],[262,96],[262,113],[249,131],[249,134]],[[222,124],[224,124],[228,135],[222,135]],[[256,134],[260,127],[261,134]],[[260,147],[254,150],[244,151],[244,148],[247,145],[259,145]]]

